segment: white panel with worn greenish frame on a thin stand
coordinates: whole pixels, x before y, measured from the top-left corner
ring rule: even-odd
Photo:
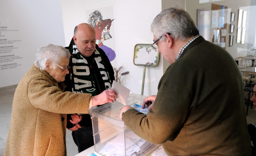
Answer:
[[[156,67],[159,53],[151,44],[136,44],[134,47],[133,64],[137,66]]]

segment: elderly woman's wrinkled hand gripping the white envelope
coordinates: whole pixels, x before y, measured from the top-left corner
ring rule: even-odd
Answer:
[[[113,89],[104,90],[102,93],[96,96],[92,96],[92,107],[105,103],[113,103],[117,98],[117,93]]]

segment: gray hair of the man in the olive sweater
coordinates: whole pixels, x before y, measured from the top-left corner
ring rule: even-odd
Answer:
[[[199,30],[188,12],[176,7],[160,12],[151,24],[151,31],[157,38],[165,33],[171,33],[174,40],[180,39],[182,41],[199,34]]]

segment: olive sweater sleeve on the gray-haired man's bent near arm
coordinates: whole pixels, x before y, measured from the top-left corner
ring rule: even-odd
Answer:
[[[129,110],[123,115],[127,127],[143,139],[155,144],[161,144],[176,137],[186,120],[191,103],[191,90],[184,90],[184,88],[192,88],[188,85],[193,83],[184,80],[186,79],[184,72],[177,72],[176,75],[170,76],[172,68],[168,70],[159,82],[157,98],[152,110],[147,115],[136,110]]]

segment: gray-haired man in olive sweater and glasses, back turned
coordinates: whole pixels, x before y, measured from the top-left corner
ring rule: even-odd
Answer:
[[[241,74],[230,54],[199,35],[183,9],[168,8],[151,25],[152,46],[170,63],[147,115],[124,106],[120,119],[168,155],[249,156]],[[153,104],[154,103],[154,104]]]

